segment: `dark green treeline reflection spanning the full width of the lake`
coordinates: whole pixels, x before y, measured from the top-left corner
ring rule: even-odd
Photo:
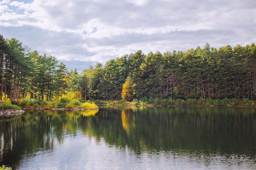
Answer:
[[[179,150],[255,157],[256,110],[101,106],[99,111],[27,111],[0,120],[0,164],[18,167],[23,157],[51,152],[67,135],[78,134],[135,154]]]

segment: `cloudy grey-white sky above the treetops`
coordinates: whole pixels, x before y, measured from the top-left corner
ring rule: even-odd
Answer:
[[[81,72],[138,50],[256,43],[256,0],[0,0],[0,34]]]

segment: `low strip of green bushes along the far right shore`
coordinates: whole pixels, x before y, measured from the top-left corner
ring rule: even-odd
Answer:
[[[127,100],[116,100],[116,101],[95,101],[98,104],[109,104],[109,105],[141,105],[141,106],[246,106],[255,107],[256,102],[243,98],[238,99],[153,99],[144,97],[143,99],[133,99],[131,102]]]

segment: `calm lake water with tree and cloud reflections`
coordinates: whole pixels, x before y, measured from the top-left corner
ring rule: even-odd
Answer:
[[[256,109],[100,106],[0,119],[17,170],[256,169]]]

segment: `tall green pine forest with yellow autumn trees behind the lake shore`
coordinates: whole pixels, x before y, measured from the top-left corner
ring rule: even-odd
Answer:
[[[0,100],[256,100],[256,46],[135,53],[78,73],[0,35]]]

